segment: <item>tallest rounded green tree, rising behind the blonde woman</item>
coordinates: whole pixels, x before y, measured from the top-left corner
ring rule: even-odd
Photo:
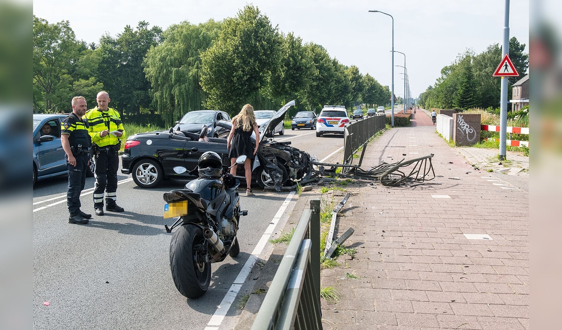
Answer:
[[[201,53],[201,87],[209,94],[205,106],[232,114],[267,95],[282,43],[277,26],[257,7],[244,6],[225,19],[215,43]]]

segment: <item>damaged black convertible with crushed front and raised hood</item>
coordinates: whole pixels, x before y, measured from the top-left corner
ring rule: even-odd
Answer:
[[[314,156],[290,146],[291,141],[277,142],[265,137],[273,135],[274,128],[283,121],[285,113],[292,106],[294,101],[285,104],[262,126],[260,145],[251,164],[252,182],[257,182],[262,189],[281,190],[295,186],[297,181],[311,172],[311,161],[316,161]],[[232,127],[228,121],[219,121],[216,125],[228,130]],[[200,134],[170,129],[129,136],[121,157],[121,172],[131,174],[139,187],[152,188],[163,178],[194,178],[190,171],[197,167],[201,154],[207,151],[218,153],[223,164],[230,166],[226,139],[208,138],[209,142],[200,141],[206,132],[206,127],[202,127]],[[252,140],[255,141],[253,134]],[[244,175],[242,166],[238,171]]]

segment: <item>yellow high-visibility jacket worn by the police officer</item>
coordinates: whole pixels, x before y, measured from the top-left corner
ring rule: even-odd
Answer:
[[[95,107],[89,109],[85,117],[88,119],[90,125],[88,132],[92,137],[92,143],[95,143],[97,146],[114,145],[120,141],[120,138],[112,134],[108,134],[102,138],[99,136],[99,133],[103,130],[109,130],[110,132],[122,130],[122,137],[125,137],[125,129],[121,122],[121,116],[119,116],[119,112],[115,111],[115,109],[108,108],[107,111],[101,111],[98,107]]]

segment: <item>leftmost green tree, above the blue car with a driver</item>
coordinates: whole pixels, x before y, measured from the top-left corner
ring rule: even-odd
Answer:
[[[69,21],[49,24],[33,16],[34,112],[53,112],[58,106],[65,110],[69,107],[64,103],[71,99],[71,74],[79,58],[78,47]]]

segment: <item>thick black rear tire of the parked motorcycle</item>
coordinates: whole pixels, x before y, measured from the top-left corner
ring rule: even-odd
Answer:
[[[198,244],[205,244],[201,228],[185,224],[176,230],[170,242],[170,269],[179,293],[195,299],[209,289],[211,263],[197,250]]]

